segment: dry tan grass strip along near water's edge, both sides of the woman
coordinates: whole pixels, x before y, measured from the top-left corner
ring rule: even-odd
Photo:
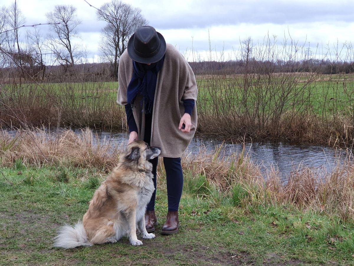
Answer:
[[[123,147],[112,148],[108,142],[97,146],[96,141],[89,130],[82,135],[70,130],[58,135],[21,130],[15,137],[2,131],[0,165],[12,166],[22,160],[27,166],[80,166],[109,172],[117,164]],[[349,155],[346,163],[338,164],[331,173],[300,168],[291,172],[287,182],[282,182],[275,168],[262,176],[259,166],[252,164],[247,155],[240,153],[220,159],[220,150],[216,154],[201,151],[183,156],[185,182],[198,183],[201,197],[209,197],[215,204],[231,197],[245,209],[294,204],[305,210],[338,215],[343,221],[354,219],[354,164]],[[159,176],[164,175],[162,169],[160,165]],[[159,178],[160,186],[163,182]]]

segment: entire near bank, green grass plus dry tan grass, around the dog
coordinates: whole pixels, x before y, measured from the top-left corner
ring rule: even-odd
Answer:
[[[243,152],[182,158],[184,192],[177,235],[162,236],[167,199],[158,168],[157,238],[53,249],[64,223],[82,218],[93,192],[119,159],[120,147],[67,130],[0,135],[0,265],[354,265],[354,167],[350,160],[318,175],[303,168],[286,183],[263,179]],[[13,140],[16,141],[13,141]],[[324,182],[325,181],[325,182]],[[172,261],[172,262],[171,262]]]

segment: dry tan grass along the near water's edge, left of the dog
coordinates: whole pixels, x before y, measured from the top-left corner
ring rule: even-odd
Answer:
[[[75,134],[65,130],[58,134],[48,134],[44,130],[20,130],[15,137],[8,132],[0,133],[1,165],[11,166],[22,158],[25,165],[71,165],[112,169],[118,163],[119,147],[109,142],[95,145],[95,138],[89,129]]]

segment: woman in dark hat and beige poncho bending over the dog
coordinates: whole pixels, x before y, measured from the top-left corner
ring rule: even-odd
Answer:
[[[166,170],[168,213],[161,233],[178,232],[182,195],[181,155],[192,140],[197,112],[197,86],[188,62],[151,26],[136,30],[119,61],[117,102],[125,106],[129,143],[144,140],[161,147]],[[154,184],[156,166],[153,159]],[[147,206],[145,226],[155,231],[155,192]]]

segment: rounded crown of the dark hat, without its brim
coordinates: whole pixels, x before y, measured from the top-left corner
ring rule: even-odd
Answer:
[[[160,46],[160,39],[155,28],[151,26],[139,27],[134,35],[134,48],[146,56],[154,53]]]

